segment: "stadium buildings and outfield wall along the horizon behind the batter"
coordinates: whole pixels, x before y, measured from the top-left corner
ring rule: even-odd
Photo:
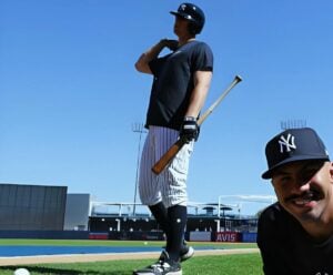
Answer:
[[[144,205],[95,202],[67,186],[0,184],[0,237],[163,240]],[[190,203],[188,241],[255,242],[256,216],[239,205]],[[235,213],[235,214],[234,214]]]

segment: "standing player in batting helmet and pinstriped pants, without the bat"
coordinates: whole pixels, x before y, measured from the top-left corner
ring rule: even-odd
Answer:
[[[213,54],[206,43],[195,40],[205,21],[198,6],[182,3],[171,14],[175,17],[173,31],[178,40],[160,40],[135,63],[139,72],[153,75],[145,123],[149,133],[140,167],[140,198],[167,235],[165,251],[159,261],[133,272],[137,275],[181,275],[180,262],[194,254],[183,237],[188,220],[186,177],[193,143],[199,136],[196,121],[212,79]],[[164,48],[171,53],[159,57]],[[153,164],[178,139],[183,139],[185,145],[161,174],[153,174]]]

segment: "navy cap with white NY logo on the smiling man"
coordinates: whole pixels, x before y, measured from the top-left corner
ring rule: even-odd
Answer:
[[[269,170],[262,179],[271,179],[272,172],[283,164],[305,161],[330,161],[329,152],[317,133],[311,128],[287,129],[270,140],[265,147]]]

